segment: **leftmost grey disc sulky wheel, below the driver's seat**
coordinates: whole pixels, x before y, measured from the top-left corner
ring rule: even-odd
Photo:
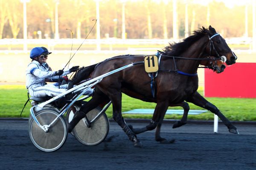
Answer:
[[[35,113],[41,125],[49,125],[58,115],[55,109],[49,108]],[[29,122],[30,140],[41,151],[52,152],[60,149],[66,142],[67,135],[67,123],[62,116],[49,128],[48,132],[44,132],[34,119]]]

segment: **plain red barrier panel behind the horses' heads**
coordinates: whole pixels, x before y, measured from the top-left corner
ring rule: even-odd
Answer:
[[[224,72],[204,71],[206,97],[256,98],[256,63],[227,65]]]

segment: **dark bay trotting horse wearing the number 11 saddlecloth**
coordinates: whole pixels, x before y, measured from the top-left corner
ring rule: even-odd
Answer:
[[[218,108],[197,92],[198,76],[196,72],[201,59],[207,55],[209,56],[209,54],[214,57],[224,56],[228,65],[235,63],[237,59],[215,29],[211,26],[209,26],[209,29],[203,27],[203,29],[195,31],[192,36],[184,39],[183,42],[170,44],[170,46],[161,51],[161,54],[160,69],[155,79],[155,98],[152,97],[151,81],[144,70],[144,65],[135,65],[111,74],[96,85],[93,98],[81,107],[80,112],[70,122],[68,126],[69,132],[80,119],[86,116],[86,113],[96,108],[99,104],[107,103],[111,100],[113,104],[113,119],[122,127],[135,146],[141,145],[136,134],[153,130],[156,127],[156,140],[160,142],[166,141],[166,139],[160,137],[160,127],[167,108],[169,106],[182,106],[185,111],[189,109],[186,102],[192,102],[215,113],[231,133],[238,134],[236,127],[231,124]],[[96,68],[95,65],[87,67],[87,75],[84,74],[84,79],[88,78],[89,75],[93,78],[98,77],[123,65],[141,61],[143,61],[143,57],[116,57],[116,59],[101,62]],[[216,80],[216,83],[221,82]],[[143,128],[131,129],[125,124],[121,113],[122,93],[145,102],[157,103],[149,125]],[[182,123],[182,121],[180,122]]]

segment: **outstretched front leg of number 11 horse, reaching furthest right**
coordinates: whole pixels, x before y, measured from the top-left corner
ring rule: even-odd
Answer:
[[[216,114],[224,123],[224,125],[227,126],[230,133],[239,134],[237,128],[234,125],[232,125],[232,123],[221,113],[221,111],[219,111],[215,105],[204,99],[204,97],[201,96],[197,91],[194,94],[192,94],[192,96],[190,96],[186,101],[198,105],[201,108],[205,108],[211,111],[212,113]]]

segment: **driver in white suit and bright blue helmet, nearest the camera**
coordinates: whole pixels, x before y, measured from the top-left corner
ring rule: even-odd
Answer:
[[[46,50],[41,47],[35,47],[30,51],[32,62],[29,63],[26,70],[26,88],[29,90],[29,94],[32,97],[53,97],[64,93],[67,89],[69,90],[70,88],[73,88],[71,82],[66,85],[61,85],[60,88],[53,84],[47,85],[46,79],[54,79],[58,78],[58,76],[67,75],[79,68],[79,66],[74,66],[70,69],[50,71],[49,66],[46,68],[46,64],[44,64],[44,60],[51,54]]]

